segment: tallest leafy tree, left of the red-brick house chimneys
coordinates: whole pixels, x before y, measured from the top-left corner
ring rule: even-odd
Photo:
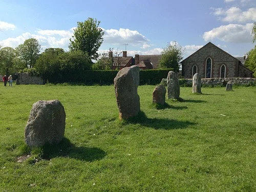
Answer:
[[[77,28],[74,29],[73,40],[70,38],[69,48],[81,50],[87,53],[91,59],[98,58],[98,49],[103,42],[104,31],[99,27],[100,21],[88,18],[84,22],[77,22]]]

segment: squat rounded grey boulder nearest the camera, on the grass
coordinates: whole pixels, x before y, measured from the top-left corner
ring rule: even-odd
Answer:
[[[33,104],[25,127],[25,142],[30,147],[59,143],[64,137],[66,113],[58,100]]]

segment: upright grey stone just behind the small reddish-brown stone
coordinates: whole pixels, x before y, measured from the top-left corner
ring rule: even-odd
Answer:
[[[178,74],[174,71],[169,71],[167,76],[167,91],[168,99],[179,99],[180,97],[180,83]]]

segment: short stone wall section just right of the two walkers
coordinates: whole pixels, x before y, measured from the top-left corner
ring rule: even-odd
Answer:
[[[41,76],[18,73],[16,84],[45,84],[45,81]]]

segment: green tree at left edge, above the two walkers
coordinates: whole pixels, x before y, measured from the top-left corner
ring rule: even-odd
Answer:
[[[14,72],[15,50],[11,47],[4,47],[0,50],[0,57],[0,71],[2,74],[9,76]]]

